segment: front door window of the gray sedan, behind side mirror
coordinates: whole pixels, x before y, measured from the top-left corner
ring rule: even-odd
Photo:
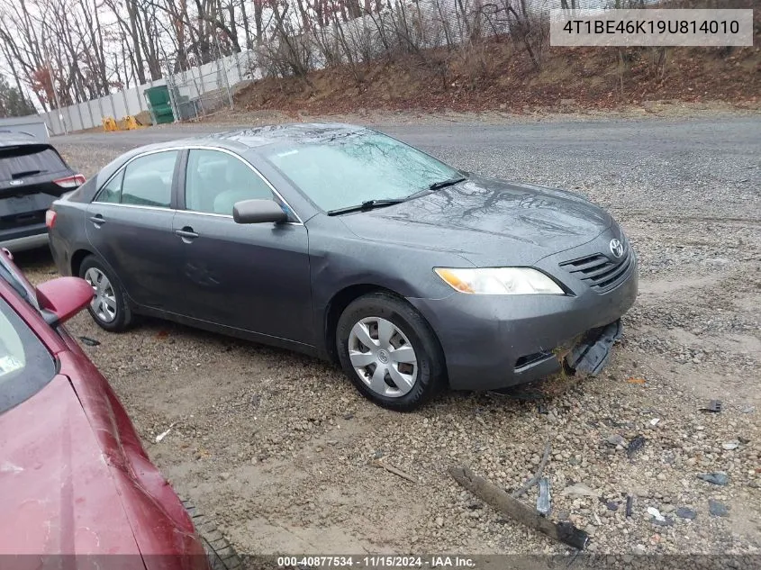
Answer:
[[[232,206],[243,200],[275,200],[275,195],[240,158],[219,150],[189,151],[186,210],[232,215]]]

